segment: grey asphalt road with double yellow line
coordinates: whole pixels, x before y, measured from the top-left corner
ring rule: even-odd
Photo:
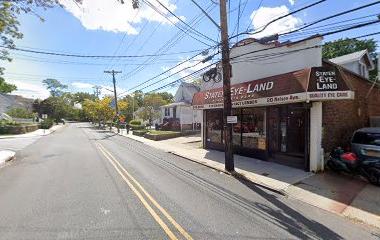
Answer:
[[[87,123],[0,169],[0,239],[379,239],[374,228]]]

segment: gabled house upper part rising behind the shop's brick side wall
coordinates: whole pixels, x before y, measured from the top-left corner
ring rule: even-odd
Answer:
[[[330,59],[331,62],[364,77],[369,78],[369,71],[375,69],[371,57],[367,50],[357,51],[336,58]]]

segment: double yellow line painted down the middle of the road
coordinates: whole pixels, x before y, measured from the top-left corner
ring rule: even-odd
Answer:
[[[187,240],[192,240],[193,238],[181,227],[169,213],[161,207],[157,201],[141,186],[141,184],[120,164],[120,162],[100,143],[96,143],[96,147],[105,156],[105,158],[111,163],[111,165],[116,169],[117,173],[121,178],[127,183],[129,188],[138,197],[144,207],[152,215],[154,220],[161,226],[165,233],[169,236],[169,239],[177,240],[178,238],[168,227],[168,225],[161,219],[159,214],[153,209],[153,206],[158,209],[163,216],[178,230],[182,236]],[[145,196],[145,198],[144,198]],[[153,205],[151,206],[149,202]]]

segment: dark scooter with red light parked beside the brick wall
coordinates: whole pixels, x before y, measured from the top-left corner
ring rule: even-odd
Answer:
[[[380,159],[361,160],[355,153],[345,152],[338,147],[331,151],[326,165],[335,172],[361,175],[370,183],[380,186]]]

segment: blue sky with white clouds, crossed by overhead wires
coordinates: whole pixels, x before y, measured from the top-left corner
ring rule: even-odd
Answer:
[[[215,4],[216,0],[195,1],[209,13],[214,21],[219,23],[219,5]],[[83,0],[82,4],[77,4],[73,0],[60,0],[60,2],[63,7],[46,10],[34,9],[44,18],[44,21],[33,14],[20,15],[20,30],[24,37],[16,41],[17,47],[79,55],[116,56],[161,53],[165,55],[104,59],[59,57],[11,51],[13,61],[10,63],[0,62],[0,66],[6,69],[5,79],[18,87],[18,90],[13,94],[30,98],[46,98],[49,96],[49,92],[42,85],[42,80],[46,78],[58,79],[66,84],[68,91],[71,92],[93,93],[93,86],[99,85],[103,87],[102,94],[110,94],[112,76],[104,73],[104,70],[111,69],[121,71],[116,75],[118,93],[129,93],[132,90],[140,89],[143,91],[155,90],[185,77],[193,71],[204,68],[210,62],[197,64],[205,58],[205,56],[199,55],[146,84],[142,83],[205,49],[210,49],[210,46],[214,47],[220,41],[220,33],[217,27],[190,0],[148,0],[153,8],[163,12],[166,18],[144,3],[147,2],[146,0],[141,1],[138,9],[132,8],[130,0],[124,0],[124,4],[118,0]],[[260,29],[270,20],[313,2],[316,0],[231,0],[227,4],[229,7],[229,35],[233,36],[237,32]],[[259,38],[274,33],[287,32],[303,24],[371,2],[374,1],[327,0],[269,25],[260,34],[244,35],[239,39],[234,38],[231,44],[237,40],[242,40],[243,37]],[[160,3],[178,18],[171,15]],[[239,3],[241,14],[239,14]],[[379,9],[380,5],[375,5],[325,21],[316,26],[323,27],[327,24],[356,18],[360,19],[340,24],[374,20],[376,16],[373,15],[379,14]],[[180,21],[194,26],[197,32],[187,31],[183,33],[175,26],[175,24],[182,24]],[[334,26],[327,25],[323,28],[327,29],[325,31],[330,31]],[[378,29],[379,24],[334,34],[326,37],[324,41],[357,37],[378,32]],[[310,29],[282,40],[294,41],[313,35],[318,31],[319,29]],[[380,35],[373,36],[373,38],[379,41]],[[209,53],[213,51],[215,48],[211,48]],[[215,57],[213,60],[217,61],[218,59]],[[185,71],[174,74],[184,68],[186,68]],[[173,76],[168,77],[170,75]],[[151,85],[158,80],[161,81]],[[175,92],[176,86],[169,85],[161,91]]]

